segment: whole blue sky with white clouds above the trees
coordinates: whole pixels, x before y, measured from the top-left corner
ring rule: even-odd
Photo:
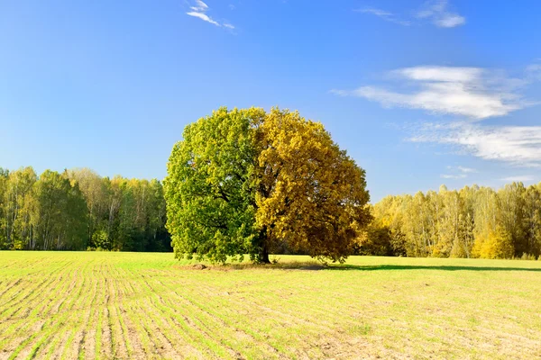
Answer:
[[[188,122],[298,109],[372,201],[541,181],[541,2],[0,3],[0,166],[166,175]]]

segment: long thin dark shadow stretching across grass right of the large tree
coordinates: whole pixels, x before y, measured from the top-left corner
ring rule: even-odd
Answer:
[[[327,267],[328,270],[445,270],[445,271],[533,271],[540,272],[541,267],[496,267],[496,266],[417,266],[417,265],[333,265]]]

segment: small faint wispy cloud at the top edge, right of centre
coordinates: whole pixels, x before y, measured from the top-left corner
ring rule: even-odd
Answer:
[[[448,10],[447,0],[435,0],[426,2],[423,8],[415,13],[415,18],[417,18],[417,21],[415,21],[415,19],[411,21],[402,20],[401,16],[397,14],[393,14],[387,10],[382,10],[374,7],[365,7],[362,9],[356,9],[354,11],[363,14],[372,14],[380,17],[387,22],[398,23],[399,25],[404,26],[418,23],[418,19],[427,19],[430,21],[430,23],[433,23],[441,28],[454,28],[455,26],[460,26],[466,23],[465,17],[459,14],[452,13]]]

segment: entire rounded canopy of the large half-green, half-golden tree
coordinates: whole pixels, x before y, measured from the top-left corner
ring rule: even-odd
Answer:
[[[177,257],[344,261],[370,220],[364,171],[298,112],[220,108],[189,124],[164,181]]]

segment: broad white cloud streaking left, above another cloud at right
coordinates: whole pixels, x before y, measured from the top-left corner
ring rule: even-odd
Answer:
[[[479,67],[407,67],[390,72],[413,85],[408,93],[377,86],[353,91],[332,90],[341,96],[358,96],[385,106],[402,106],[428,112],[486,119],[522,109],[527,103],[516,93],[518,79],[496,76]]]

